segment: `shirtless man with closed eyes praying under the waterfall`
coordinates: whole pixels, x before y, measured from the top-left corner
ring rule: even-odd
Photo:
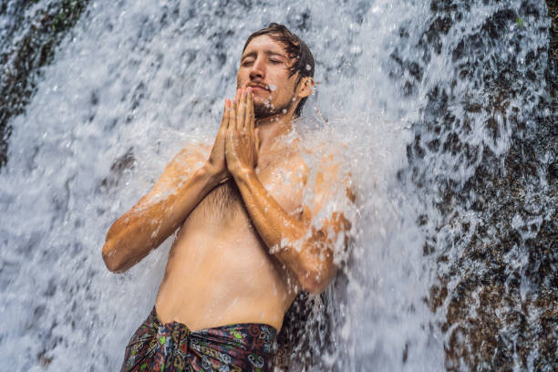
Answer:
[[[180,228],[123,371],[272,370],[296,294],[320,293],[335,276],[334,243],[349,223],[339,212],[320,217],[319,228],[311,222],[339,183],[338,167],[320,161],[313,199],[303,202],[312,169],[297,140],[285,140],[313,75],[310,50],[286,27],[255,32],[209,156],[182,150],[110,227],[103,258],[117,273]]]

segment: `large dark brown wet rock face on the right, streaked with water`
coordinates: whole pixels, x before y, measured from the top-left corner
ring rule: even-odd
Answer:
[[[459,24],[451,21],[462,16],[457,3],[432,3],[438,16],[427,40],[441,40]],[[425,208],[437,212],[418,223],[429,235],[424,253],[439,267],[428,302],[446,337],[449,371],[558,368],[558,52],[550,2],[549,15],[550,46],[526,44],[523,27],[539,20],[547,32],[541,25],[548,15],[530,1],[497,11],[462,37],[452,53],[453,86],[467,81],[470,99],[433,89],[408,146],[405,175],[425,200],[439,191]],[[499,44],[510,53],[495,53]],[[429,46],[425,55],[442,47]],[[484,128],[474,128],[479,121]],[[477,130],[488,137],[474,140]],[[429,163],[448,153],[455,170],[470,171],[469,177],[432,175]]]

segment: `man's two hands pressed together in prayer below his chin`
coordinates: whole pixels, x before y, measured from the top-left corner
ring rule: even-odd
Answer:
[[[222,183],[243,171],[252,171],[257,163],[259,141],[254,129],[251,88],[236,91],[233,101],[226,99],[221,127],[213,144],[208,167]]]

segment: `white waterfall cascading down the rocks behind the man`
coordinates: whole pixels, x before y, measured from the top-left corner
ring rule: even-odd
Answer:
[[[110,274],[105,234],[176,152],[212,139],[243,42],[269,22],[314,52],[319,84],[297,126],[345,143],[357,214],[336,281],[287,315],[278,365],[558,366],[542,1],[24,3],[0,7],[6,73],[34,25],[87,6],[64,33],[45,27],[40,45],[65,37],[51,61],[29,61],[27,93],[12,91],[0,117],[0,359],[10,370],[119,368],[171,242]]]

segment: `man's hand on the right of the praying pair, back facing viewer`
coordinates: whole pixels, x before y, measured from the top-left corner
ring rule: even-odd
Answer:
[[[231,105],[225,157],[233,176],[253,170],[257,163],[258,140],[253,123],[252,89],[243,88]]]

